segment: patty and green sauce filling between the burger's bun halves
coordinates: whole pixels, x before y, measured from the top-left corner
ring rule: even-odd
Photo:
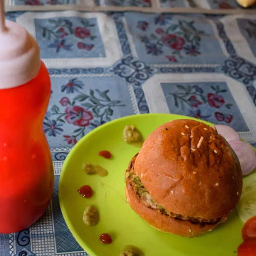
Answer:
[[[218,222],[224,222],[227,219],[227,216],[223,216],[217,219],[204,219],[200,217],[189,217],[182,216],[180,214],[175,214],[173,212],[169,212],[162,205],[158,204],[157,201],[148,193],[148,191],[143,186],[140,178],[136,175],[133,168],[131,170],[127,170],[125,173],[125,182],[129,182],[130,186],[133,187],[134,192],[136,192],[137,198],[139,202],[147,206],[151,209],[156,209],[161,214],[168,215],[169,217],[177,218],[180,220],[188,220],[194,224],[216,224]]]

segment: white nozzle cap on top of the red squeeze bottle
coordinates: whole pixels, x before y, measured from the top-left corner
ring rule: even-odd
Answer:
[[[17,87],[34,79],[41,66],[35,38],[19,24],[5,20],[0,0],[0,89]]]

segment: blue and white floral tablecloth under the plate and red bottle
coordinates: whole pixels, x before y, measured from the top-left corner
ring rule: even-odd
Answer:
[[[105,122],[139,113],[177,113],[228,124],[256,144],[254,9],[251,14],[240,9],[240,14],[226,16],[114,12],[115,8],[54,11],[61,4],[73,9],[83,3],[90,8],[150,8],[157,3],[167,9],[204,4],[205,9],[239,10],[233,0],[6,1],[7,10],[16,10],[6,18],[35,36],[51,76],[44,131],[55,187],[39,221],[19,233],[0,234],[0,256],[87,255],[61,215],[58,180],[73,145]],[[35,11],[45,7],[54,8]]]

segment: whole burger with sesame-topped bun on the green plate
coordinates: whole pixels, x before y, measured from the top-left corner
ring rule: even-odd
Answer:
[[[212,231],[239,202],[239,160],[218,132],[187,119],[153,131],[125,172],[131,208],[157,230],[182,237]]]

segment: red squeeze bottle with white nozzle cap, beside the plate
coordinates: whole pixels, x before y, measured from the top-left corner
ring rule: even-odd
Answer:
[[[52,196],[52,158],[43,130],[51,94],[35,39],[4,20],[0,0],[0,233],[40,218]]]

